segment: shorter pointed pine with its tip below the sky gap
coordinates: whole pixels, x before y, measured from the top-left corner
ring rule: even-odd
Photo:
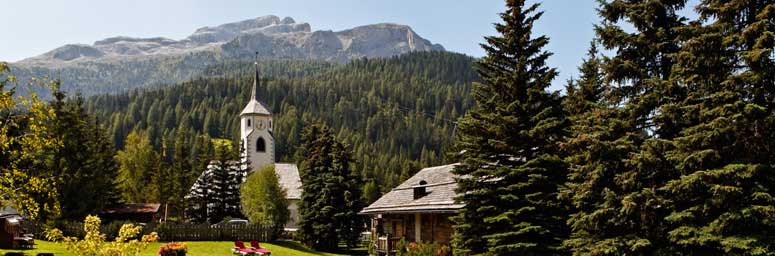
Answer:
[[[561,198],[572,212],[568,220],[571,235],[563,245],[574,255],[605,255],[606,250],[623,246],[619,243],[625,241],[615,237],[618,225],[606,229],[601,223],[615,212],[619,200],[611,190],[611,171],[626,168],[622,159],[634,149],[627,137],[622,138],[626,122],[616,107],[618,99],[605,81],[596,46],[591,44],[579,67],[581,77],[569,82],[563,99],[571,126],[561,143],[569,168]]]

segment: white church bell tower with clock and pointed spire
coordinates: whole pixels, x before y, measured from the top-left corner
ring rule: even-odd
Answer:
[[[261,85],[258,60],[255,62],[255,79],[250,101],[240,113],[240,144],[242,156],[250,161],[250,170],[255,171],[274,164],[274,137],[272,136],[272,113],[256,99],[256,89]]]

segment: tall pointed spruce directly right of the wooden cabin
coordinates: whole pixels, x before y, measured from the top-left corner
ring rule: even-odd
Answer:
[[[556,92],[547,91],[557,71],[546,67],[546,36],[533,37],[538,4],[507,1],[486,37],[478,62],[476,106],[461,119],[461,165],[455,217],[456,253],[561,255],[567,212],[558,199],[566,166],[558,140],[566,120]]]

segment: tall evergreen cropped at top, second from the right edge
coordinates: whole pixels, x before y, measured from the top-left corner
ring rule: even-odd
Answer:
[[[567,144],[577,149],[569,158],[575,209],[565,242],[575,255],[674,254],[664,235],[666,199],[656,190],[675,176],[666,151],[683,126],[674,106],[686,92],[671,78],[685,2],[599,1],[603,21],[595,29],[615,52],[602,63],[613,86],[597,110],[582,111],[588,114],[575,121],[587,120],[574,124]]]

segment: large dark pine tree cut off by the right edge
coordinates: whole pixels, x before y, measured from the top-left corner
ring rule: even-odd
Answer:
[[[682,255],[769,255],[775,250],[773,33],[775,1],[705,0],[682,29],[675,76],[691,124],[668,152],[681,174],[667,237]]]

